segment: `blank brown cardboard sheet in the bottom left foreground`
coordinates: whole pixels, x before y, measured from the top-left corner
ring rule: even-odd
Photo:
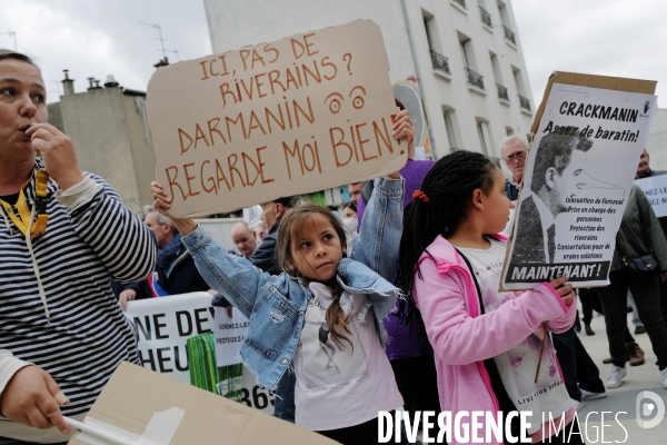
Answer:
[[[161,421],[156,422],[158,417],[155,416],[156,413],[166,414]],[[337,443],[257,409],[129,363],[121,364],[113,373],[92,405],[84,423],[98,427],[103,423],[101,425],[108,432],[120,428],[127,433],[126,437],[133,436],[133,439],[130,438],[128,442],[137,444],[332,445]],[[169,441],[170,429],[176,432]],[[116,434],[125,434],[122,431],[117,431]],[[86,436],[78,433],[69,444],[103,444],[101,441],[80,439]],[[143,437],[137,442],[138,436]]]

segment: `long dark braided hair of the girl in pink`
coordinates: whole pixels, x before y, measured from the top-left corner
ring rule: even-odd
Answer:
[[[428,254],[428,246],[438,235],[447,237],[454,234],[466,220],[476,189],[485,195],[491,192],[495,170],[496,166],[481,154],[455,151],[431,167],[421,184],[422,198],[412,198],[404,209],[396,285],[407,296],[407,301],[400,300],[398,314],[410,329],[424,332],[424,322],[412,295],[415,275],[421,278],[417,267],[419,257],[425,251]]]

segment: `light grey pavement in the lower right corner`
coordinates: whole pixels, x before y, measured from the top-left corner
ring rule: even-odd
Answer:
[[[595,335],[587,336],[581,323],[579,339],[598,366],[600,378],[606,383],[607,376],[611,370],[611,365],[603,364],[603,359],[609,356],[609,344],[605,333],[605,317],[596,314],[590,325]],[[630,333],[635,332],[631,314],[628,314],[628,327]],[[656,355],[650,347],[648,335],[633,334],[633,336],[641,349],[644,349],[646,363],[641,366],[629,366],[627,364],[628,375],[624,378],[623,385],[619,388],[607,389],[607,397],[584,402],[579,407],[578,416],[581,422],[581,429],[588,435],[588,437],[584,437],[587,444],[667,444],[667,418],[653,428],[641,428],[637,424],[637,395],[643,390],[650,390],[661,398],[664,406],[667,406],[667,389],[663,388],[660,373],[656,365]],[[658,404],[653,402],[653,413],[640,418],[651,419],[655,417]],[[645,408],[643,407],[641,409]],[[603,413],[605,413],[604,422],[601,419]],[[586,422],[587,416],[588,422]],[[604,428],[603,424],[605,425]],[[603,431],[604,435],[601,434]]]

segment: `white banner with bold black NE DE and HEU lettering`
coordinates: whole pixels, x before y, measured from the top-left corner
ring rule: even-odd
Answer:
[[[215,309],[211,306],[211,296],[207,293],[129,301],[125,315],[135,324],[139,336],[139,359],[143,367],[189,384],[187,342],[195,336],[212,333]],[[235,319],[237,316],[242,317],[235,310]],[[220,358],[238,363],[238,355],[237,347],[231,356]],[[267,413],[273,412],[273,395],[268,389],[260,388],[252,373],[246,367],[239,398],[247,406]]]

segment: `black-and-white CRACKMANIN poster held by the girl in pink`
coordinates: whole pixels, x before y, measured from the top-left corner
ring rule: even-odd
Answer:
[[[555,73],[532,126],[501,289],[607,285],[656,109],[653,81]]]

